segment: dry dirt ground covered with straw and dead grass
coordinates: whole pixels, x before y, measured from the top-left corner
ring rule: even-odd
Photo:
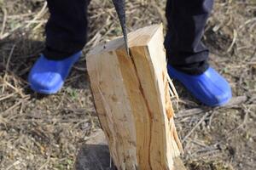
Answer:
[[[221,108],[180,95],[177,130],[189,170],[256,169],[256,1],[216,0],[203,38],[211,64],[228,79],[234,99]],[[163,22],[163,0],[127,3],[129,31]],[[26,82],[44,48],[44,0],[0,0],[0,169],[73,169],[79,148],[100,127],[85,58],[91,46],[121,35],[113,6],[90,3],[90,41],[59,94],[33,93]]]

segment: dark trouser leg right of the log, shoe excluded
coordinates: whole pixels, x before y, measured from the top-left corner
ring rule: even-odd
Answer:
[[[168,63],[188,74],[201,74],[209,67],[209,50],[202,44],[201,37],[213,0],[168,0],[166,18],[166,54]]]

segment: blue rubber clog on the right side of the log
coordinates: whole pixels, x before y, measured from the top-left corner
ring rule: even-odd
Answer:
[[[217,71],[208,68],[201,75],[191,76],[168,65],[170,77],[182,82],[194,97],[208,106],[221,106],[232,98],[230,84]]]

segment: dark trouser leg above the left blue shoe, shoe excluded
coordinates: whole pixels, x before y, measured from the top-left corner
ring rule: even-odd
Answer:
[[[90,0],[47,0],[49,21],[46,25],[48,59],[65,59],[84,48],[87,37],[87,6]]]

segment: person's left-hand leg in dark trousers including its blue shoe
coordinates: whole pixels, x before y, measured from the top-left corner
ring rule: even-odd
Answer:
[[[28,76],[30,87],[41,94],[58,92],[81,56],[87,37],[90,0],[47,0],[49,21],[46,47]]]

